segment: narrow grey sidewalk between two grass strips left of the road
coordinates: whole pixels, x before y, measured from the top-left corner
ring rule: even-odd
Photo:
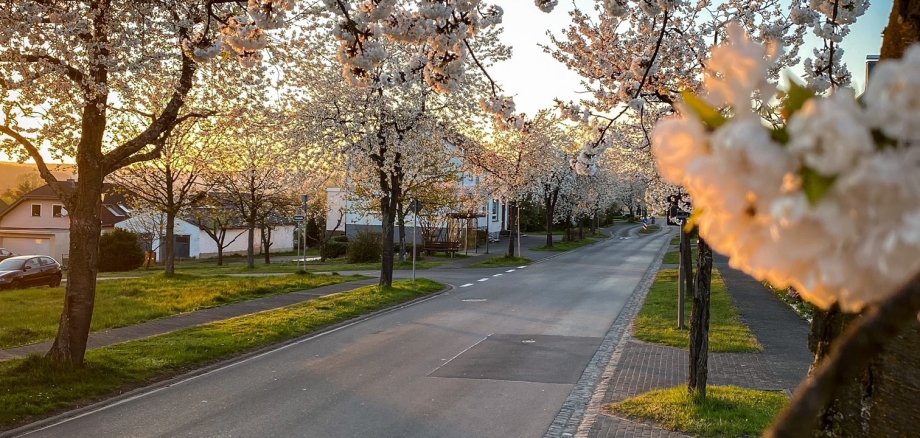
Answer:
[[[376,278],[368,278],[331,284],[300,292],[271,295],[264,298],[228,304],[226,306],[211,307],[194,312],[167,316],[140,324],[92,332],[89,334],[87,349],[105,347],[107,345],[133,341],[135,339],[149,338],[151,336],[162,335],[164,333],[194,327],[196,325],[208,324],[237,316],[290,306],[292,304],[310,301],[314,298],[344,292],[369,284],[376,284],[378,281],[379,280]],[[48,341],[0,350],[0,362],[26,357],[30,354],[44,354],[51,348],[51,344],[52,341]]]

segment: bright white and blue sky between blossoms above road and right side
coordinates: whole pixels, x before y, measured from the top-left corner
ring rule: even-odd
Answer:
[[[574,0],[582,10],[592,11],[596,0]],[[853,86],[862,91],[865,81],[866,55],[877,55],[882,46],[881,33],[891,12],[892,0],[872,2],[865,15],[851,27],[843,41],[844,63],[853,74]],[[560,35],[571,22],[568,12],[572,1],[563,0],[552,13],[540,12],[530,0],[498,2],[505,9],[502,23],[503,39],[513,48],[510,60],[489,69],[489,74],[501,84],[505,93],[514,96],[518,111],[534,115],[542,108],[553,107],[553,99],[577,100],[582,90],[579,76],[544,53],[538,44],[549,44],[547,31]],[[818,44],[813,35],[806,39],[807,47],[799,52],[802,58],[811,56]],[[801,69],[797,72],[801,76]]]

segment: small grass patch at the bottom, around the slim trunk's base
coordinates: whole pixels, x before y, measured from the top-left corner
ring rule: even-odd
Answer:
[[[760,436],[788,402],[779,391],[709,385],[706,392],[706,399],[695,400],[686,386],[659,389],[605,409],[693,435],[739,437]]]

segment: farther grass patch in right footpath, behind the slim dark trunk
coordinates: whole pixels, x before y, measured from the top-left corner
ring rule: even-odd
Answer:
[[[709,351],[753,352],[762,347],[751,329],[741,323],[731,303],[725,282],[719,271],[712,270],[710,301]],[[687,324],[690,320],[691,297],[685,301]],[[672,347],[687,348],[689,330],[677,328],[677,269],[662,269],[649,290],[642,310],[633,325],[637,339]]]

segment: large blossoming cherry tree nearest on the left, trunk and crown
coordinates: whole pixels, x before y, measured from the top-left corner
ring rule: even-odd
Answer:
[[[24,0],[2,8],[0,147],[36,163],[71,224],[71,264],[52,360],[83,363],[103,178],[156,157],[178,123],[200,115],[186,105],[196,83],[238,74],[228,63],[202,68],[198,62],[226,53],[256,64],[268,43],[263,29],[277,27],[291,6],[290,0]],[[152,117],[138,122],[138,111]],[[80,177],[73,190],[56,184],[43,148],[76,160]]]

